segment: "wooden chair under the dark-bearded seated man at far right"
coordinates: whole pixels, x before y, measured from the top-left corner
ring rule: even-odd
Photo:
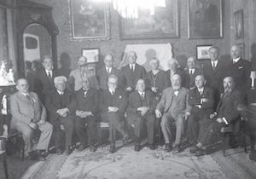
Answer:
[[[236,125],[238,125],[238,131],[234,131],[236,128]],[[223,156],[226,157],[225,151],[229,147],[229,137],[231,135],[235,135],[236,137],[242,138],[245,153],[247,153],[247,143],[246,143],[246,125],[245,125],[245,118],[240,118],[238,121],[236,121],[235,124],[230,124],[225,127],[223,127],[220,132],[223,135],[223,141],[224,141],[224,147],[223,147]]]

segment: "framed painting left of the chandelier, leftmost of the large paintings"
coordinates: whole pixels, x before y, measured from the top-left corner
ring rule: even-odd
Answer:
[[[109,6],[107,1],[70,0],[73,38],[108,40]]]

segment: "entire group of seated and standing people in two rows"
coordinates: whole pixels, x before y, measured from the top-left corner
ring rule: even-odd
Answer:
[[[64,131],[64,153],[69,154],[72,152],[73,133],[81,143],[79,150],[89,145],[90,151],[96,151],[96,122],[106,121],[109,124],[109,152],[113,153],[117,131],[122,135],[124,144],[129,139],[123,125],[125,117],[134,130],[135,151],[141,149],[144,125],[148,132],[148,147],[155,148],[154,125],[159,121],[166,151],[175,148],[180,152],[183,137],[187,134],[190,151],[201,155],[212,131],[218,132],[221,126],[236,120],[236,106],[245,99],[248,89],[250,63],[241,59],[238,46],[232,46],[230,53],[233,60],[223,61],[218,58],[218,48],[210,48],[211,61],[201,69],[195,67],[194,57],[189,57],[185,70],[177,60],[171,59],[166,72],[159,69],[160,61],[153,58],[150,61],[152,70],[148,73],[137,64],[134,51],[128,54],[129,64],[121,71],[113,67],[113,56],[106,55],[105,66],[98,69],[96,75],[90,74],[87,59],[81,56],[78,69],[73,70],[69,78],[57,76],[52,60],[45,57],[44,70],[34,78],[33,90],[38,95],[24,90],[27,86],[25,79],[18,80],[19,91],[11,100],[15,128],[22,132],[29,152],[31,143],[28,136],[31,133],[27,134],[27,131],[32,130],[26,129],[30,129],[30,124],[37,124],[42,132],[40,139],[44,145],[38,145],[40,150],[47,149],[53,132],[56,152],[60,154]],[[26,101],[26,93],[32,96],[31,104]],[[26,107],[31,110],[29,114],[27,109],[23,109],[23,103],[31,105]],[[46,113],[50,124],[45,122]],[[212,113],[213,119],[209,119]],[[175,134],[172,125],[176,126]],[[173,136],[175,140],[172,143]]]

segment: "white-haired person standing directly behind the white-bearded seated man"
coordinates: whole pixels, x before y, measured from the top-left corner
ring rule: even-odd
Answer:
[[[178,64],[177,60],[172,58],[168,61],[169,70],[166,71],[168,78],[168,86],[172,86],[171,78],[174,74],[178,74],[181,77],[181,86],[184,87],[184,71]]]

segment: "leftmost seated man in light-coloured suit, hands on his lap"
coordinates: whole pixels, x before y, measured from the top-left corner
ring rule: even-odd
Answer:
[[[48,150],[53,126],[46,122],[46,110],[36,93],[28,91],[26,79],[20,78],[16,86],[18,92],[10,98],[12,114],[11,125],[22,133],[25,142],[25,155],[32,152],[32,133],[37,128],[41,131],[37,149]],[[44,159],[43,153],[39,159]]]

